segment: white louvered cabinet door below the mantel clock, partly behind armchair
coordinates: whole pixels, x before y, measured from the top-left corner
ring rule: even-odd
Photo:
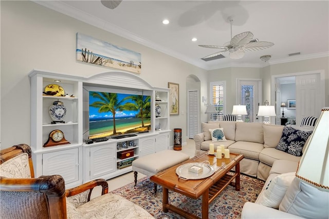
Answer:
[[[44,153],[43,175],[61,175],[65,184],[79,180],[79,148]]]

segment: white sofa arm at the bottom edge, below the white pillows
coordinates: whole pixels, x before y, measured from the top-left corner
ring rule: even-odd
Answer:
[[[266,207],[251,202],[243,205],[241,218],[303,218],[294,214],[279,211],[274,208]]]

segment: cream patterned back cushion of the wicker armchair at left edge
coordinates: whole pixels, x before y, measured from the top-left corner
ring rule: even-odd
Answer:
[[[31,178],[28,154],[22,153],[4,162],[0,165],[0,174],[9,178]]]

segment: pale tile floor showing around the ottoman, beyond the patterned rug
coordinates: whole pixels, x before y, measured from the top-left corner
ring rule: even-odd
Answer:
[[[180,152],[186,153],[190,157],[194,156],[194,151],[195,151],[195,144],[194,144],[193,139],[187,139],[187,144],[183,145],[180,150]],[[140,180],[143,177],[145,177],[145,175],[138,173],[137,180]],[[122,186],[125,186],[127,184],[133,183],[134,180],[135,180],[134,172],[129,172],[129,173],[117,176],[115,178],[111,178],[111,179],[107,180],[108,191],[112,191],[112,190],[115,190]]]

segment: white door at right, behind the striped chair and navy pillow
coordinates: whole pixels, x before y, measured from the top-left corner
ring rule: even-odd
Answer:
[[[296,124],[300,125],[304,116],[320,117],[321,113],[320,74],[296,76]]]

